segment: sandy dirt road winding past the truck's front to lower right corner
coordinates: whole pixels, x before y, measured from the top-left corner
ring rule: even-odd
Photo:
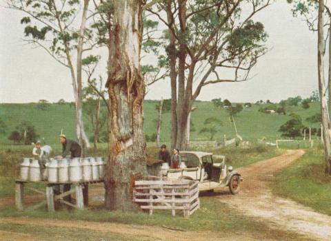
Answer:
[[[239,169],[244,178],[239,195],[218,196],[219,201],[244,215],[263,221],[272,229],[292,231],[312,240],[331,240],[330,216],[274,196],[268,187],[275,172],[303,154],[303,150],[288,150],[281,156]]]

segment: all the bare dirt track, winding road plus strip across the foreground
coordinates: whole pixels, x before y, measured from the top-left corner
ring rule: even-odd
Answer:
[[[260,220],[270,229],[297,233],[298,240],[305,237],[311,240],[331,240],[330,216],[316,213],[292,200],[273,196],[268,182],[274,172],[286,167],[304,154],[302,150],[289,150],[285,154],[269,160],[243,167],[239,171],[244,182],[239,195],[217,195],[219,202],[239,211],[245,216]],[[1,200],[8,205],[8,201]],[[1,203],[0,203],[1,205]],[[231,233],[214,233],[211,231],[173,231],[162,227],[145,227],[130,224],[115,224],[109,222],[74,221],[45,218],[0,218],[0,224],[23,224],[37,227],[63,227],[69,229],[86,229],[100,233],[114,233],[128,240],[259,240],[247,233],[243,235]],[[252,235],[252,234],[251,234]],[[0,231],[0,237],[5,240],[41,240],[35,235]],[[14,237],[14,238],[13,238]],[[61,239],[58,239],[61,240]]]

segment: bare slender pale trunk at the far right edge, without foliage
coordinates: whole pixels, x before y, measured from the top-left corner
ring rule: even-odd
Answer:
[[[324,75],[324,32],[323,32],[324,1],[319,1],[318,21],[318,45],[317,45],[317,67],[319,72],[319,97],[321,99],[322,131],[325,151],[325,174],[331,174],[331,144],[330,144],[330,118],[328,113],[328,100],[325,96],[325,75]]]

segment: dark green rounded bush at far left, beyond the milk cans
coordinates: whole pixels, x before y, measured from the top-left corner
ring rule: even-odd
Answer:
[[[23,122],[15,128],[15,131],[8,137],[9,140],[13,140],[14,143],[21,143],[30,145],[35,143],[39,135],[36,133],[34,126],[28,122]]]

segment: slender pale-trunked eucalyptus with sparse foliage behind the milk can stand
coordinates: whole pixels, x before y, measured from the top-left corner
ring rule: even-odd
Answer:
[[[82,59],[96,42],[86,28],[89,0],[8,0],[8,7],[23,12],[24,35],[28,43],[45,50],[68,67],[76,105],[76,133],[82,147],[90,147],[83,124]],[[92,14],[93,15],[93,14]]]

